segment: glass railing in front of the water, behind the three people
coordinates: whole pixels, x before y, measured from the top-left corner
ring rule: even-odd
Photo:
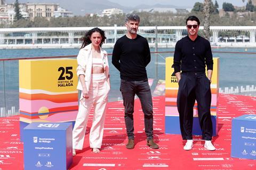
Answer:
[[[163,49],[159,49],[164,50]],[[173,56],[173,51],[151,52],[151,62],[147,66],[149,83],[153,95],[159,80],[165,80],[165,58]],[[242,94],[256,96],[256,53],[255,52],[225,52],[213,51],[213,55],[220,57],[219,87],[221,93]],[[0,117],[19,114],[19,60],[73,58],[76,55],[47,56],[36,58],[0,59]],[[120,77],[117,69],[111,64],[109,54],[111,91],[109,102],[122,100],[119,91]]]

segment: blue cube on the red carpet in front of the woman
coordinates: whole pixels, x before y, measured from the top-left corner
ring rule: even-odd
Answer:
[[[72,164],[72,123],[31,123],[23,129],[25,170],[68,169]]]

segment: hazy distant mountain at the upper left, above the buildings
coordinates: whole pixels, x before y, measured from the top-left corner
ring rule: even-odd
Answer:
[[[13,1],[14,2],[14,1]],[[12,3],[7,1],[7,3]],[[59,4],[66,10],[72,11],[75,15],[90,13],[101,13],[104,9],[118,8],[129,11],[129,7],[110,2],[108,0],[19,0],[19,3],[53,3]]]

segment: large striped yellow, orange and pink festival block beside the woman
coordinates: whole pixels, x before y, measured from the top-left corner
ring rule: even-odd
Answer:
[[[78,110],[75,59],[19,61],[20,127],[32,122],[74,122]]]

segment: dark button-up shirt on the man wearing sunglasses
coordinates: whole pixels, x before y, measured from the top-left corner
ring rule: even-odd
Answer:
[[[213,70],[213,59],[210,42],[197,36],[192,41],[188,36],[180,39],[175,46],[173,67],[174,72],[204,72]]]

